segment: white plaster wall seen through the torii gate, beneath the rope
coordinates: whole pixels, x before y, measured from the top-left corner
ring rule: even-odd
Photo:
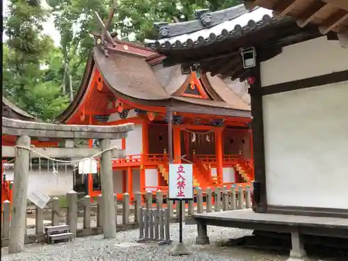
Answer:
[[[6,170],[6,180],[13,180],[14,171]],[[58,174],[54,175],[52,169],[50,171],[29,171],[28,191],[38,189],[47,196],[62,196],[71,191],[74,187],[74,178],[72,170],[58,170]]]

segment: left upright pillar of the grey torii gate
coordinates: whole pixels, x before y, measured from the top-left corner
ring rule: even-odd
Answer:
[[[19,136],[16,145],[30,148],[29,136]],[[17,147],[15,155],[15,177],[13,182],[13,204],[10,223],[10,241],[8,253],[24,251],[24,234],[26,234],[26,195],[29,180],[30,151]]]

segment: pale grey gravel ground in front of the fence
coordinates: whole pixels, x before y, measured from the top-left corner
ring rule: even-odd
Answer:
[[[177,242],[178,224],[171,225],[171,238]],[[172,246],[158,246],[155,243],[136,243],[139,230],[118,232],[117,239],[103,239],[102,235],[95,237],[77,238],[74,242],[65,242],[54,245],[33,244],[27,245],[26,251],[8,255],[7,248],[2,249],[2,261],[191,261],[191,260],[276,260],[284,261],[286,257],[270,256],[251,250],[240,250],[216,246],[228,238],[251,235],[251,230],[236,228],[208,227],[211,241],[209,246],[194,245],[197,231],[196,226],[184,226],[184,242],[193,252],[192,255],[174,257],[170,254]]]

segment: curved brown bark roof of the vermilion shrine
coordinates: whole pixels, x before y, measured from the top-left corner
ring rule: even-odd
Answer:
[[[118,42],[118,45],[128,45],[127,42]],[[132,45],[134,47],[134,45]],[[200,82],[212,93],[214,100],[197,97],[183,97],[177,95],[177,90],[187,83],[189,75],[183,75],[179,65],[164,68],[160,63],[152,63],[149,57],[156,53],[146,48],[148,54],[124,52],[125,48],[107,47],[109,56],[106,57],[98,47],[94,47],[88,60],[84,79],[67,110],[61,113],[56,120],[65,122],[79,107],[86,93],[89,81],[93,77],[93,68],[102,74],[106,86],[111,93],[123,100],[129,100],[146,106],[208,106],[220,109],[240,111],[242,117],[250,117],[250,105],[245,102],[232,88],[229,88],[219,77],[203,74]],[[127,49],[127,48],[126,48]],[[144,47],[139,47],[144,50]],[[152,64],[151,64],[152,63]],[[226,81],[226,80],[225,80]],[[228,80],[227,80],[228,81]],[[246,113],[245,113],[246,112]],[[236,114],[236,116],[238,113]]]

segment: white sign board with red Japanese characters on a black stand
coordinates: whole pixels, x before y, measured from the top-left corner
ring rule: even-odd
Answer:
[[[169,164],[169,198],[193,199],[192,164]]]

